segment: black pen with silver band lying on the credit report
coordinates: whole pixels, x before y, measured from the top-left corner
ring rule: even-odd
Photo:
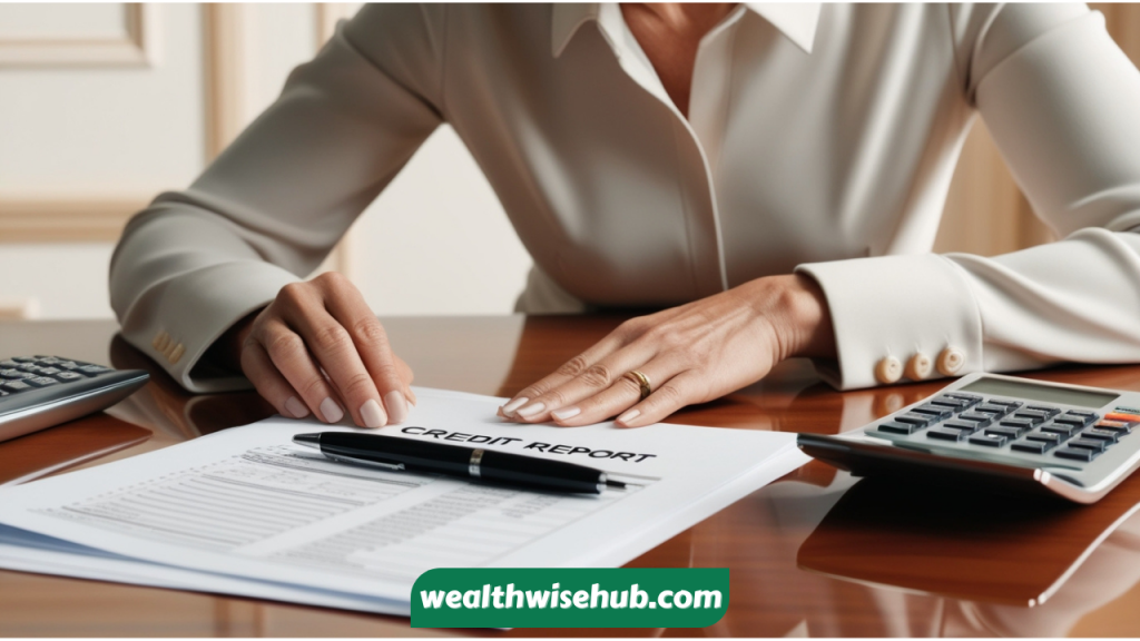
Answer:
[[[626,486],[586,465],[410,438],[320,432],[296,435],[293,443],[316,447],[335,461],[483,479],[535,489],[601,494],[605,487]]]

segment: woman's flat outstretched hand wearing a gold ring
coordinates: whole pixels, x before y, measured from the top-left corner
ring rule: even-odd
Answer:
[[[503,406],[527,423],[586,425],[621,413],[618,423],[656,423],[763,379],[792,356],[834,356],[826,301],[807,276],[758,278],[689,305],[621,324]],[[652,393],[641,398],[645,374]]]

